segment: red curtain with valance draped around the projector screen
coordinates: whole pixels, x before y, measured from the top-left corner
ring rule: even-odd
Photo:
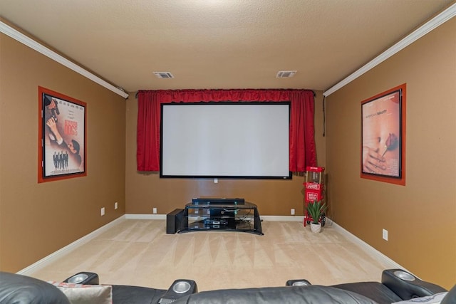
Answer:
[[[209,101],[290,101],[290,171],[316,167],[314,92],[311,90],[140,90],[138,171],[160,169],[160,104]]]

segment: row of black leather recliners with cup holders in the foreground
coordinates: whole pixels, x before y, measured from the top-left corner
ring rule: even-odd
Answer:
[[[82,272],[68,283],[98,285],[96,273]],[[307,285],[306,285],[307,284]],[[292,280],[288,286],[197,291],[192,280],[176,280],[168,290],[130,285],[112,285],[113,303],[150,304],[222,304],[222,303],[393,303],[413,297],[433,295],[444,288],[421,281],[398,269],[383,271],[382,283],[360,282],[334,286],[309,285],[309,281]],[[14,273],[0,272],[0,303],[70,303],[56,286]],[[442,304],[456,304],[456,286],[445,295]]]

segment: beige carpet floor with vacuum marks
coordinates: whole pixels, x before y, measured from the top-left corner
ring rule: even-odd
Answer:
[[[199,291],[283,286],[306,278],[332,285],[380,281],[395,265],[369,254],[327,223],[321,234],[299,221],[263,221],[264,236],[229,231],[166,234],[165,220],[125,219],[31,276],[63,281],[79,271],[100,283],[167,289],[177,278]]]

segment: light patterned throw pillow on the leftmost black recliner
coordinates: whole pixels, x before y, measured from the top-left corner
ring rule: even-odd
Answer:
[[[50,281],[60,289],[70,300],[71,304],[112,304],[113,286],[111,285],[82,285],[74,283],[58,283]]]

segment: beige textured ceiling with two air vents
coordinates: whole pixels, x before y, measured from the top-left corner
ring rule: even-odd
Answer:
[[[0,16],[128,92],[326,90],[453,3],[0,0]],[[279,70],[298,73],[276,78]]]

